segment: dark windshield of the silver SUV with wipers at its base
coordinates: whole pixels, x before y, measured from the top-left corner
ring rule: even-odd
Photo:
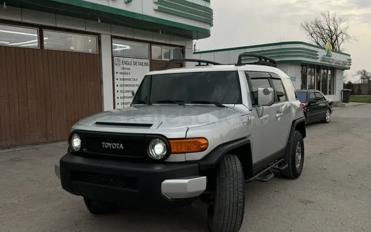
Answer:
[[[194,101],[241,104],[237,72],[218,71],[145,76],[133,102],[174,104],[169,100],[185,104]]]

